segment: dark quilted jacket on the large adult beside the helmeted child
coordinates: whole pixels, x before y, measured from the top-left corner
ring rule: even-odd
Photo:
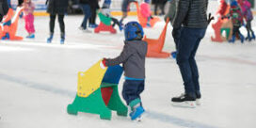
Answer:
[[[179,0],[172,26],[179,28],[183,24],[191,28],[207,27],[207,6],[208,0]]]

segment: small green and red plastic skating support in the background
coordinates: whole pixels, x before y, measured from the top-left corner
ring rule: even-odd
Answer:
[[[111,25],[111,18],[105,16],[101,12],[98,15],[101,23],[94,29],[95,33],[100,33],[101,31],[110,32],[112,34],[117,33],[117,30]]]

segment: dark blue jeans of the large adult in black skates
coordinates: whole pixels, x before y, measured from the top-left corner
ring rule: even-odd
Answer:
[[[205,31],[206,28],[182,27],[178,42],[176,59],[184,80],[184,90],[186,94],[193,97],[196,97],[196,91],[200,91],[199,71],[195,56]]]

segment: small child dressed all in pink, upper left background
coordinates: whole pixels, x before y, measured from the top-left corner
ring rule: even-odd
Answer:
[[[31,2],[31,0],[24,0],[24,22],[25,22],[25,29],[28,32],[28,39],[35,38],[35,27],[34,27],[34,9],[35,5]]]

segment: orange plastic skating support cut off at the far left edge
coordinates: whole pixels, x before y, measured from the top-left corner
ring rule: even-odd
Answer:
[[[24,8],[17,8],[16,12],[14,14],[13,9],[9,8],[8,9],[8,14],[7,18],[4,20],[3,23],[7,21],[11,21],[10,25],[3,25],[0,24],[0,38],[2,39],[6,34],[8,33],[9,35],[9,40],[23,40],[23,37],[16,36],[17,28],[18,28],[18,23],[19,23],[19,15],[23,11]],[[14,15],[13,15],[14,14]]]

